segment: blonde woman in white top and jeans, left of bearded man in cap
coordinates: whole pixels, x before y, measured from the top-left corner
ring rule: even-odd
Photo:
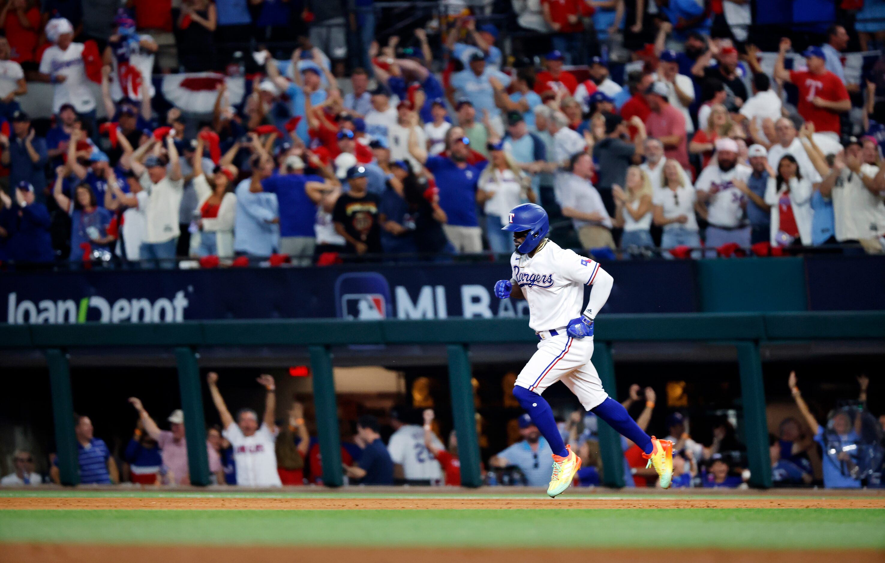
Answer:
[[[655,225],[664,228],[661,248],[669,250],[677,246],[699,248],[701,237],[697,234],[695,217],[696,192],[685,179],[682,166],[673,158],[667,158],[661,171],[661,189],[651,199]],[[664,258],[671,258],[668,253]]]

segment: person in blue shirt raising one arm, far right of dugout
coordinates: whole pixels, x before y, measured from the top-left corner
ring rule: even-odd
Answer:
[[[851,477],[851,469],[857,467],[858,433],[851,428],[848,414],[836,413],[827,427],[818,424],[812,412],[805,404],[799,391],[796,372],[789,373],[789,390],[799,412],[814,433],[814,441],[823,450],[820,466],[824,474],[824,487],[827,489],[859,489],[860,480]],[[859,421],[858,417],[858,421]]]

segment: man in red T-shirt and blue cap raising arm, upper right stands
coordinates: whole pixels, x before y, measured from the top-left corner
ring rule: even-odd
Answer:
[[[774,78],[795,84],[799,89],[799,115],[814,124],[818,133],[828,133],[839,140],[839,114],[849,112],[851,100],[843,81],[827,70],[827,55],[820,47],[810,47],[803,53],[808,69],[789,71],[785,66],[787,51],[792,42],[784,37],[774,63]]]

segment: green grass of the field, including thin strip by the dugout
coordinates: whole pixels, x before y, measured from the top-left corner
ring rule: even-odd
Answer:
[[[0,494],[189,495],[216,496],[135,491],[128,495],[103,491]],[[243,496],[334,495],[318,491]],[[343,495],[379,496],[427,497]],[[0,542],[612,548],[656,544],[673,548],[885,549],[885,509],[0,510]]]

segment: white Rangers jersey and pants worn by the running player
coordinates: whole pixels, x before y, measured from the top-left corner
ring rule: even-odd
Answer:
[[[516,384],[541,395],[552,383],[562,380],[588,411],[601,404],[608,394],[590,363],[593,337],[573,338],[566,334],[566,327],[569,320],[581,316],[586,285],[596,288],[583,315],[590,320],[596,318],[612,291],[612,276],[594,260],[550,240],[531,258],[514,252],[510,264],[511,282],[519,285],[528,301],[528,326],[541,339]]]

